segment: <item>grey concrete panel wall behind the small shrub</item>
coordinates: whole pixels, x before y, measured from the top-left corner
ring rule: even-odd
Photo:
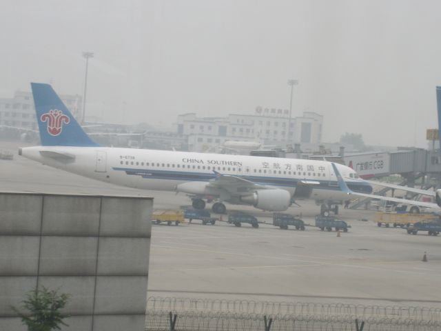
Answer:
[[[36,286],[72,295],[63,330],[144,330],[153,199],[0,193],[0,330]]]

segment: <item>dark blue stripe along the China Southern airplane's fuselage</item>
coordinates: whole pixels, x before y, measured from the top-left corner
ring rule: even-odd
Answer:
[[[145,179],[163,179],[172,181],[209,181],[210,179],[216,178],[214,173],[205,172],[185,172],[185,171],[170,171],[170,170],[152,170],[152,169],[133,169],[133,168],[112,168],[116,171],[124,171],[126,174],[131,176],[141,176]],[[303,179],[293,179],[293,178],[279,178],[279,177],[262,177],[262,176],[252,176],[252,175],[237,175],[232,176],[247,179],[247,181],[252,181],[253,183],[260,185],[271,185],[271,186],[285,186],[285,187],[296,187],[298,181]],[[337,181],[322,180],[319,178],[314,179],[318,181],[319,185],[314,185],[314,188],[322,190],[340,190]],[[369,183],[363,182],[351,182],[347,183],[348,187],[353,190],[353,192],[367,193],[372,192],[372,187]]]

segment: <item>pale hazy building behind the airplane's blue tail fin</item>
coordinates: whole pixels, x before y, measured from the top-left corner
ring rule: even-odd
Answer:
[[[82,98],[78,94],[59,94],[76,119],[81,117]],[[16,91],[13,98],[0,99],[0,126],[38,130],[31,92]]]

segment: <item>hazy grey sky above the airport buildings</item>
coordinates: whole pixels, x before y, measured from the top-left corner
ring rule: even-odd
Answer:
[[[323,140],[425,147],[441,85],[441,1],[3,0],[0,95],[52,82],[107,121],[318,112]]]

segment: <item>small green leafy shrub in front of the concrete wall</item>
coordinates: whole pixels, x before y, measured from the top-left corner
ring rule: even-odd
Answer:
[[[36,288],[26,293],[26,299],[22,301],[22,308],[26,313],[15,307],[12,307],[12,310],[19,314],[21,322],[28,326],[29,331],[61,330],[60,325],[68,326],[63,322],[68,315],[63,314],[61,309],[68,303],[69,298],[70,294],[59,293],[58,290]]]

